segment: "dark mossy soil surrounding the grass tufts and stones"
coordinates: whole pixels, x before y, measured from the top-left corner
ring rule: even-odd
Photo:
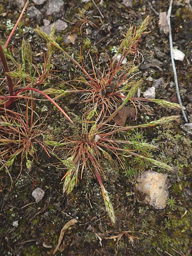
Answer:
[[[21,2],[21,0],[0,0],[0,36],[3,43],[6,42],[11,31],[8,30],[7,20],[11,20],[13,24],[16,23],[20,15]],[[51,22],[59,17],[68,23],[65,31],[56,32],[57,41],[76,59],[79,58],[81,46],[83,62],[87,70],[91,69],[88,51],[94,63],[103,65],[105,61],[113,57],[114,47],[119,46],[130,24],[139,25],[150,14],[151,21],[148,27],[150,33],[143,35],[139,44],[139,51],[144,58],[140,66],[141,73],[138,75],[138,77],[143,77],[141,90],[145,91],[153,85],[154,80],[162,77],[163,83],[156,89],[156,99],[177,102],[169,52],[169,36],[160,32],[159,16],[151,9],[149,5],[151,1],[130,0],[127,2],[132,3],[132,7],[125,7],[122,0],[104,0],[102,5],[99,4],[99,0],[95,0],[102,15],[92,1],[82,3],[81,0],[64,0],[63,2],[64,11],[55,16],[46,14],[45,4],[35,7],[44,14],[44,18]],[[32,5],[34,3],[30,1],[29,7]],[[156,12],[167,12],[169,1],[152,1],[152,6]],[[187,1],[174,1],[171,21],[174,46],[186,54],[184,61],[176,61],[176,67],[183,105],[186,107],[189,122],[192,122],[192,12]],[[39,25],[43,25],[42,21]],[[11,43],[15,50],[15,58],[19,60],[23,36],[29,39],[34,53],[33,62],[37,65],[43,62],[43,55],[37,54],[46,48],[46,42],[32,31],[35,26],[36,21],[25,14]],[[70,34],[76,35],[75,43],[65,44],[64,38]],[[85,43],[86,38],[90,39],[90,44]],[[53,56],[53,63],[54,70],[59,70],[59,73],[55,72],[58,79],[50,77],[49,83],[54,84],[55,88],[69,88],[63,81],[82,76],[81,72],[58,50]],[[11,63],[9,67],[12,67]],[[3,78],[1,64],[0,72]],[[153,81],[149,81],[149,76]],[[71,128],[68,128],[69,122],[58,111],[55,111],[51,104],[37,103],[37,111],[40,112],[45,104],[49,109],[47,123],[54,128],[52,134],[54,140],[60,141],[63,136],[79,133],[78,124],[83,107],[82,104],[77,104],[79,99],[79,95],[67,95],[57,101],[72,119],[76,119],[76,125],[70,126]],[[153,103],[146,104],[144,107],[141,106],[137,122],[145,123],[146,120],[151,121],[171,114],[180,113],[160,108]],[[131,125],[137,123],[134,120],[130,122]],[[1,171],[0,255],[44,256],[51,254],[58,243],[62,227],[71,218],[77,219],[78,223],[67,230],[63,240],[63,252],[58,251],[56,255],[191,255],[192,137],[183,129],[183,125],[184,121],[181,118],[179,122],[142,130],[148,143],[156,143],[159,146],[158,151],[150,152],[150,154],[153,153],[157,160],[175,166],[176,172],[174,173],[168,173],[149,163],[135,163],[131,158],[126,165],[135,170],[135,175],[125,176],[120,166],[113,166],[112,163],[103,160],[102,165],[106,174],[104,184],[116,213],[115,226],[108,218],[98,182],[90,171],[84,173],[83,179],[79,180],[78,186],[67,197],[62,195],[61,183],[66,169],[54,167],[55,160],[48,159],[41,150],[38,152],[38,164],[34,162],[30,172],[23,167],[18,179],[20,165],[18,163],[13,166],[10,173],[13,181],[17,179],[13,186],[11,186],[8,173]],[[65,157],[66,152],[61,150],[58,154]],[[115,157],[114,160],[116,160]],[[117,167],[119,167],[118,170]],[[143,196],[134,189],[137,170],[148,170],[152,167],[154,171],[169,175],[169,198],[173,198],[175,203],[168,204],[163,210],[156,210],[145,204]],[[36,187],[40,187],[45,192],[44,198],[38,203],[35,203],[32,197],[32,191]],[[18,227],[13,226],[14,221],[18,221]],[[130,236],[123,235],[119,241],[117,238],[106,239],[117,236],[122,231],[133,233],[128,233]]]

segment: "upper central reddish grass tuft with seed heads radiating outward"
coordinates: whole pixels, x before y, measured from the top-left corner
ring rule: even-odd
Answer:
[[[135,98],[133,96],[127,98],[126,96],[126,94],[130,94],[129,92],[132,90],[135,83],[137,83],[138,89],[142,81],[131,81],[136,74],[135,72],[138,69],[138,65],[134,65],[135,61],[127,61],[125,64],[123,64],[123,61],[128,55],[130,55],[133,46],[135,47],[135,44],[138,44],[138,39],[140,38],[140,36],[145,33],[144,31],[148,26],[148,21],[149,16],[145,18],[145,20],[138,29],[134,29],[134,26],[131,26],[128,29],[125,38],[123,39],[122,43],[119,46],[119,49],[116,52],[115,57],[112,61],[110,61],[107,67],[103,68],[102,71],[94,66],[93,60],[90,56],[90,61],[92,64],[91,72],[93,72],[93,75],[90,75],[90,73],[86,70],[82,63],[82,59],[81,64],[79,64],[72,56],[70,56],[63,48],[61,48],[50,35],[47,35],[39,27],[37,27],[35,29],[35,32],[38,33],[38,35],[40,35],[42,38],[50,42],[54,47],[58,48],[61,52],[63,52],[67,56],[67,58],[69,58],[87,77],[87,79],[84,78],[74,80],[82,84],[81,87],[71,85],[74,90],[58,90],[59,95],[56,98],[66,93],[82,93],[83,98],[81,97],[81,103],[84,102],[85,104],[84,111],[88,119],[92,118],[95,114],[97,116],[101,116],[101,118],[103,116],[110,116],[117,108],[119,111],[119,106],[122,105],[122,102],[124,103],[124,105],[131,102],[135,108],[136,105],[134,101],[149,101],[155,102],[158,105],[163,105],[164,107],[169,107],[171,105],[172,108],[180,108],[178,104],[166,102],[164,100]],[[46,90],[45,92],[51,94],[57,93],[57,90],[50,89]],[[100,115],[100,113],[102,114]]]

